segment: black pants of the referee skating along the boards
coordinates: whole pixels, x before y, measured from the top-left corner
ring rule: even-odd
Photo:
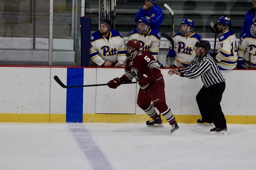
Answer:
[[[226,129],[227,125],[220,103],[225,87],[225,82],[214,84],[208,88],[203,86],[196,96],[202,120],[207,123],[213,122],[216,128],[223,129]]]

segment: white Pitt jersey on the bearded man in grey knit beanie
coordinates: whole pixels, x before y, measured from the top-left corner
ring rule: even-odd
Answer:
[[[116,30],[109,30],[110,37],[107,40],[100,35],[99,30],[91,35],[90,61],[101,66],[105,61],[116,62],[125,66],[126,51],[124,37]]]

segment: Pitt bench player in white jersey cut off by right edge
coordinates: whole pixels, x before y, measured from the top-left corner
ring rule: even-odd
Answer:
[[[256,48],[256,21],[251,25],[250,33],[242,35],[238,44],[238,69],[256,69],[256,52],[251,54],[249,63],[249,52]]]

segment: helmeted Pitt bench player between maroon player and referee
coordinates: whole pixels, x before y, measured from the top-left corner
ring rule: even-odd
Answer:
[[[179,33],[173,37],[174,50],[170,44],[170,50],[166,56],[166,66],[171,67],[173,65],[174,68],[185,68],[196,60],[197,56],[193,47],[196,42],[203,41],[203,38],[192,32],[194,26],[192,19],[186,18],[182,20]]]

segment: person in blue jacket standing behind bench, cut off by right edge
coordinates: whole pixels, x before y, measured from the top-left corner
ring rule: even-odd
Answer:
[[[256,0],[253,0],[253,8],[251,8],[246,13],[239,39],[241,39],[243,34],[247,32],[250,34],[251,25],[254,23],[255,19],[256,19]]]

